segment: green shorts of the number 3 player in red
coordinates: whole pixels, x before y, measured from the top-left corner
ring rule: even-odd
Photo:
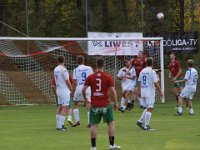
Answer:
[[[90,124],[95,125],[101,122],[101,118],[106,123],[114,121],[112,106],[108,105],[101,108],[90,108]]]

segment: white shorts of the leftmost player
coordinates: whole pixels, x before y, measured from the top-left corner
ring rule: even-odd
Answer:
[[[58,105],[62,106],[69,106],[70,103],[70,93],[66,92],[65,90],[57,90],[56,91],[57,99],[58,99]]]

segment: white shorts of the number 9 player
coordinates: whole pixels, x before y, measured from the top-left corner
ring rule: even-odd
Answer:
[[[76,87],[76,91],[74,93],[74,101],[79,102],[79,101],[84,100],[82,89],[83,89],[83,86]],[[91,102],[91,88],[90,87],[88,87],[86,90],[86,98],[88,102]]]

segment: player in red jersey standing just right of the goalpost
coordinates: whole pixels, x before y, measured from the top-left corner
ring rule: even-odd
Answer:
[[[176,59],[175,53],[170,54],[170,64],[169,64],[169,79],[173,81],[173,93],[176,96],[178,102],[178,97],[183,90],[183,84],[181,82],[175,82],[176,80],[182,80],[182,69],[179,61]]]

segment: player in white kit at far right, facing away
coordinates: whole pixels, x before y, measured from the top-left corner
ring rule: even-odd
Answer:
[[[175,83],[185,82],[185,87],[182,90],[181,94],[179,95],[179,99],[178,99],[179,106],[178,106],[178,112],[176,116],[181,116],[183,114],[183,109],[182,109],[183,98],[186,99],[187,104],[189,106],[189,115],[194,115],[194,110],[192,108],[191,100],[193,99],[193,96],[196,92],[198,72],[196,69],[193,68],[194,61],[192,59],[189,59],[187,61],[187,64],[188,64],[188,70],[185,73],[184,79],[175,81]]]

